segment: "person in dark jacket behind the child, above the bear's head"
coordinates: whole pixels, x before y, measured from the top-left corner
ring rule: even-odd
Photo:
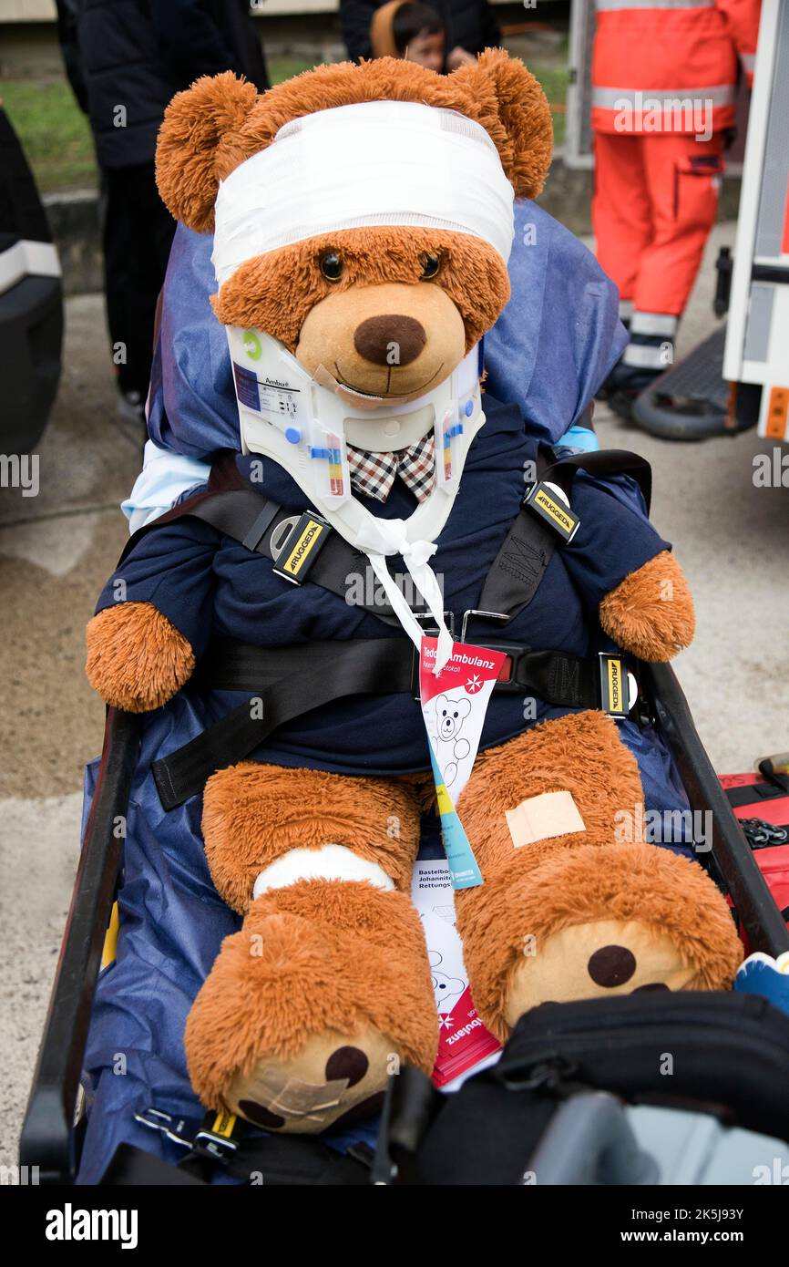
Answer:
[[[339,24],[348,57],[372,57],[370,24],[385,0],[339,0]],[[495,48],[502,32],[486,0],[431,0],[447,32],[447,71],[474,61],[484,48]]]

